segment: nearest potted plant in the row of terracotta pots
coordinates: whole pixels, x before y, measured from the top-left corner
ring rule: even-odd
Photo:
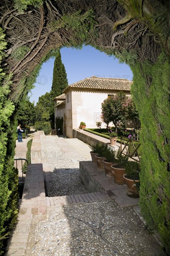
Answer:
[[[123,175],[127,186],[127,195],[132,198],[139,197],[139,173],[140,166],[138,162],[128,162]]]

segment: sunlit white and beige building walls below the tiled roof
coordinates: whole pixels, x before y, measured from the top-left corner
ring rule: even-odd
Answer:
[[[101,103],[107,99],[108,94],[116,94],[113,91],[108,92],[81,92],[70,90],[65,94],[64,104],[56,108],[55,116],[63,117],[63,131],[69,138],[73,137],[72,129],[80,128],[80,122],[86,123],[86,128],[97,128],[96,122],[101,121]],[[127,93],[126,95],[130,95]],[[113,126],[111,123],[110,126]],[[105,123],[102,122],[102,128]]]

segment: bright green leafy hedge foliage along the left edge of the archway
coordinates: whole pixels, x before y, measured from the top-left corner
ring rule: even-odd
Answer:
[[[5,35],[0,28],[0,65],[5,57],[6,45]],[[11,78],[0,68],[0,255],[18,213],[18,172],[13,166],[16,128],[11,132],[15,121],[10,122],[14,105],[8,99]]]

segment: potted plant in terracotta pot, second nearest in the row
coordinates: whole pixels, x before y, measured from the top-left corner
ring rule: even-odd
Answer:
[[[116,158],[116,163],[111,165],[111,172],[114,174],[115,183],[124,185],[125,180],[123,175],[125,174],[125,166],[128,163],[129,158],[127,155],[122,155],[120,149],[118,150]]]

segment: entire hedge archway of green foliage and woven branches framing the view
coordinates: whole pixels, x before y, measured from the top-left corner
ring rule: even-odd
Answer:
[[[168,0],[2,0],[0,3],[0,247],[17,215],[15,112],[41,64],[84,43],[127,63],[142,125],[140,204],[170,250],[170,6]]]

